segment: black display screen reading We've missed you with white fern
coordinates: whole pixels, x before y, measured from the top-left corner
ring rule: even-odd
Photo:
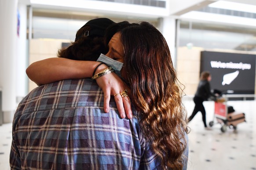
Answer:
[[[200,71],[210,71],[211,89],[228,94],[254,94],[256,55],[202,51]]]

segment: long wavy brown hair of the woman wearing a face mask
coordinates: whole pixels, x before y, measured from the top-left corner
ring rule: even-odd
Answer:
[[[186,113],[165,38],[153,25],[141,22],[124,28],[121,42],[124,78],[131,88],[132,103],[140,111],[140,128],[160,156],[162,168],[180,170],[187,146]]]

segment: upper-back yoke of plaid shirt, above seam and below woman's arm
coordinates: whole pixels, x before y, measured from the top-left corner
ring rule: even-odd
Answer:
[[[91,79],[68,79],[40,85],[33,89],[19,103],[16,112],[46,110],[52,107],[77,106],[90,103],[102,91]],[[92,98],[92,99],[91,99]],[[91,99],[91,100],[90,100]]]

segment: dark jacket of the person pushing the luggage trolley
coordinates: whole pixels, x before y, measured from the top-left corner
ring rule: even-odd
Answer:
[[[199,82],[195,96],[200,97],[204,100],[208,100],[210,96],[215,96],[211,93],[209,81],[201,80]]]

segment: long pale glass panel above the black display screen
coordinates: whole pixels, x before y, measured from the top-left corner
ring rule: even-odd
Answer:
[[[180,22],[179,46],[256,51],[256,30],[226,25]]]

